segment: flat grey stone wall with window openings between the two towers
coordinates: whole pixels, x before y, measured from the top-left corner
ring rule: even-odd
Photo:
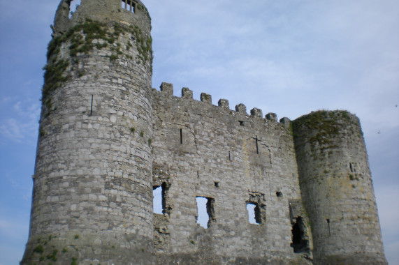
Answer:
[[[192,98],[173,86],[154,89],[154,185],[165,183],[164,215],[156,215],[155,242],[162,262],[226,264],[285,262],[294,253],[289,199],[300,199],[288,119],[263,119],[260,109],[229,109],[227,100]],[[206,197],[210,221],[196,223],[196,197]],[[260,224],[248,221],[247,203],[260,208]],[[262,263],[262,264],[263,264]],[[186,264],[186,263],[184,263]],[[188,263],[187,263],[188,264]]]

